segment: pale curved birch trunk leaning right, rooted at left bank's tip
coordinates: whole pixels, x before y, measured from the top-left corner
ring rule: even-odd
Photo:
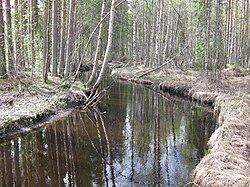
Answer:
[[[108,30],[108,43],[107,43],[101,71],[100,71],[98,79],[96,80],[94,87],[93,87],[94,90],[97,89],[97,87],[100,85],[101,80],[104,76],[104,72],[106,69],[107,62],[108,62],[108,57],[110,54],[110,49],[112,47],[113,24],[114,24],[114,18],[115,18],[115,2],[116,2],[116,0],[112,0],[112,2],[111,2],[111,10],[110,10],[110,18],[109,18],[109,30]]]

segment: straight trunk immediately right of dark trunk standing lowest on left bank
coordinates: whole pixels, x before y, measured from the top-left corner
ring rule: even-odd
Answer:
[[[58,58],[58,0],[52,1],[52,75],[57,75]]]

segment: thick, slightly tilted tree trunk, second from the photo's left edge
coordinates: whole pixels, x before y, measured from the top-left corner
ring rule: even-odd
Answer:
[[[6,30],[7,30],[7,54],[8,54],[8,73],[12,76],[15,75],[15,66],[14,66],[14,50],[13,50],[13,41],[12,41],[12,27],[11,27],[11,7],[10,0],[5,1],[5,10],[6,10]]]

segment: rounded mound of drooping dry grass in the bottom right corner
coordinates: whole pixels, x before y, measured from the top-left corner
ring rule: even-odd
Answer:
[[[225,151],[215,152],[202,159],[194,170],[194,183],[202,187],[248,187],[249,162]]]

